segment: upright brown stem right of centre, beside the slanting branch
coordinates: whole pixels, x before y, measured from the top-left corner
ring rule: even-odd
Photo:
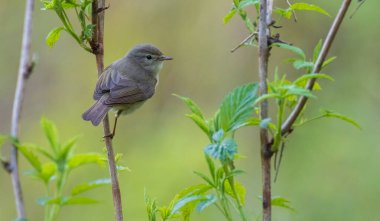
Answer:
[[[260,21],[259,21],[259,78],[260,78],[260,96],[268,93],[268,62],[269,47],[268,24],[271,23],[271,12],[273,2],[271,0],[260,0]],[[268,118],[268,101],[260,103],[260,118]],[[269,143],[268,130],[260,129],[261,143],[261,168],[262,168],[262,185],[263,185],[263,220],[271,220],[271,170],[270,160],[272,157],[271,144]]]

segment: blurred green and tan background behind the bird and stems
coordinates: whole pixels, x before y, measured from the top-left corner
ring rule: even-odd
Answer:
[[[341,1],[307,2],[335,15]],[[0,0],[0,4],[0,133],[8,133],[24,1]],[[175,58],[166,63],[153,99],[118,125],[115,148],[125,154],[123,162],[131,169],[120,175],[126,220],[147,220],[144,189],[157,197],[159,204],[168,204],[177,192],[201,182],[192,171],[206,172],[203,147],[207,138],[184,116],[188,110],[171,94],[193,98],[211,116],[227,92],[245,82],[257,81],[256,49],[229,52],[248,35],[238,17],[223,24],[222,18],[230,7],[230,0],[110,2],[105,21],[106,65],[143,42],[153,43]],[[363,130],[335,119],[319,120],[296,130],[287,142],[279,178],[273,185],[273,195],[288,198],[296,212],[274,208],[273,220],[379,220],[379,7],[379,1],[367,1],[353,19],[345,20],[330,53],[338,59],[325,70],[335,82],[321,82],[323,91],[317,92],[318,99],[312,100],[306,112],[306,116],[312,117],[320,108],[335,110],[357,120]],[[82,112],[93,102],[94,56],[78,47],[66,33],[62,33],[54,48],[48,48],[45,36],[59,21],[55,14],[40,8],[41,2],[37,1],[32,51],[39,61],[26,88],[21,140],[47,145],[39,126],[40,117],[46,116],[57,124],[63,140],[81,135],[77,152],[101,152],[101,127],[81,119]],[[281,21],[284,28],[278,32],[284,41],[300,46],[310,55],[317,41],[324,38],[333,17],[313,12],[297,15],[297,23]],[[284,62],[290,55],[274,49],[271,73],[277,65],[281,73],[295,79],[299,73]],[[257,197],[261,194],[257,132],[255,128],[244,128],[237,134],[239,153],[246,156],[237,162],[246,171],[239,179],[247,188],[247,211],[252,220],[261,216]],[[5,148],[3,153],[8,151]],[[21,168],[30,168],[23,158]],[[107,168],[87,166],[72,174],[69,186],[107,176]],[[10,183],[8,174],[0,170],[1,221],[15,218]],[[43,186],[25,176],[22,186],[28,217],[43,220],[43,208],[35,202],[44,194]],[[110,187],[89,195],[102,203],[65,207],[59,220],[112,220]],[[222,217],[210,207],[195,214],[192,220]]]

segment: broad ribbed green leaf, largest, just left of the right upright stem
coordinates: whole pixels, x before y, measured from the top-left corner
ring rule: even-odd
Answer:
[[[226,133],[242,127],[252,117],[257,99],[258,84],[251,83],[235,88],[220,105],[218,121]]]

